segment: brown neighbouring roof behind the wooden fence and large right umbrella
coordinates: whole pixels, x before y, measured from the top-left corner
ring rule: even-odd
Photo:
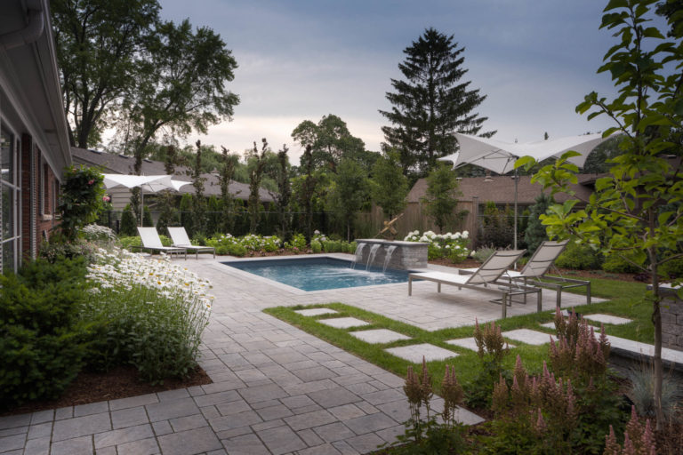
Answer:
[[[578,180],[580,182],[592,182],[597,176],[594,174],[580,174]],[[486,180],[490,181],[486,181]],[[571,185],[571,188],[576,193],[576,198],[587,201],[591,196],[593,189],[586,184]],[[472,197],[478,197],[478,202],[484,204],[488,201],[493,201],[495,204],[514,204],[515,202],[515,180],[510,176],[495,176],[495,177],[463,177],[458,184],[458,191],[462,193],[458,199],[462,201],[470,201]],[[531,176],[523,175],[519,177],[518,183],[518,204],[531,205],[534,204],[536,197],[542,193],[542,186],[531,183]],[[545,193],[550,194],[550,190]],[[422,198],[427,195],[427,179],[417,180],[414,187],[406,196],[408,203],[419,203]],[[555,201],[558,203],[565,202],[569,199],[565,193],[558,193],[555,195]]]

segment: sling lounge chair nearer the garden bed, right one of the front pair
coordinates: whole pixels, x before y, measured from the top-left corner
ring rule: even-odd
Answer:
[[[586,303],[591,304],[591,282],[586,280],[575,280],[572,278],[565,278],[559,274],[559,271],[554,266],[555,259],[565,251],[568,240],[561,242],[553,242],[546,240],[541,243],[534,254],[531,256],[526,266],[520,271],[507,270],[501,279],[510,281],[518,281],[525,285],[532,284],[536,287],[550,288],[557,291],[557,306],[560,307],[562,303],[562,291],[570,288],[586,287]],[[550,267],[555,268],[555,272],[559,276],[546,275],[550,271]],[[467,275],[474,273],[476,268],[461,268],[460,273]]]

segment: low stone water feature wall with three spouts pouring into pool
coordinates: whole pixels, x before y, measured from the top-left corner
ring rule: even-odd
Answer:
[[[380,239],[357,239],[356,267],[365,266],[373,255],[370,267],[383,268],[387,257],[387,268],[408,270],[427,267],[427,244]],[[362,250],[361,250],[362,248]],[[374,249],[374,254],[373,254]]]

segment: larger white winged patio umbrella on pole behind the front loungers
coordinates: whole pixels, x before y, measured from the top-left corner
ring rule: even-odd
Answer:
[[[602,134],[586,134],[583,136],[569,136],[554,140],[540,140],[537,142],[510,143],[501,140],[479,138],[459,132],[454,133],[455,139],[460,144],[460,150],[453,155],[438,158],[439,161],[452,161],[453,168],[464,164],[475,164],[489,171],[505,174],[514,169],[515,161],[521,156],[533,156],[536,161],[541,161],[551,156],[561,156],[563,153],[574,150],[579,156],[569,158],[569,162],[583,167],[586,158],[593,148],[609,139],[603,138]],[[515,232],[514,249],[517,250],[517,187],[518,175],[515,171]]]

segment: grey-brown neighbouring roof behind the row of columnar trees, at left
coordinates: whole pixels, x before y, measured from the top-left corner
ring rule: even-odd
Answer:
[[[133,165],[135,159],[133,156],[116,155],[112,153],[100,152],[97,150],[89,150],[85,148],[71,148],[71,155],[74,157],[74,162],[83,164],[84,166],[99,166],[108,173],[115,174],[133,174]],[[188,175],[189,168],[186,166],[176,166],[174,180],[192,181],[191,176]],[[149,159],[142,160],[143,175],[161,175],[165,174],[164,163]],[[205,196],[221,196],[221,181],[218,175],[213,173],[201,174],[205,178],[204,194]],[[249,197],[249,185],[240,183],[235,180],[230,180],[229,192],[237,199],[247,199]],[[195,188],[191,185],[185,185],[181,188],[180,193],[194,193]],[[273,202],[273,196],[267,189],[259,189],[259,198],[261,202]]]

